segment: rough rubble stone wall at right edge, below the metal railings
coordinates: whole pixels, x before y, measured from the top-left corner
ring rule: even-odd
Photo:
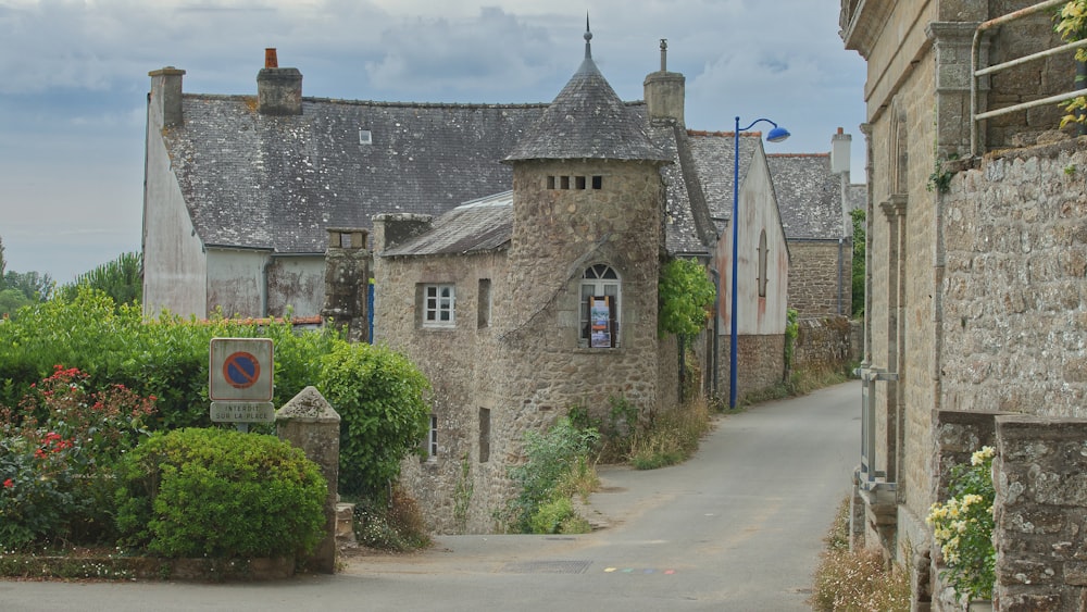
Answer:
[[[1087,138],[987,158],[945,207],[944,408],[1087,416]]]

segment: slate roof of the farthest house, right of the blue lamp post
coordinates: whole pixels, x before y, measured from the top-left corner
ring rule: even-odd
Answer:
[[[842,233],[841,176],[828,153],[766,155],[789,240],[837,240]]]

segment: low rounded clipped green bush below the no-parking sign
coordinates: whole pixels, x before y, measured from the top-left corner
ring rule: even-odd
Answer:
[[[121,463],[122,545],[167,558],[305,554],[324,537],[327,485],[272,436],[155,434]]]

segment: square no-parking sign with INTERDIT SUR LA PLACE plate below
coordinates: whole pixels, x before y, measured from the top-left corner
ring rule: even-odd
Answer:
[[[211,420],[237,423],[272,423],[272,340],[270,338],[212,338],[209,348],[208,396]]]

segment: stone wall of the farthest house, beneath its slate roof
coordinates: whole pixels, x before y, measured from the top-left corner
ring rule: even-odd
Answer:
[[[802,319],[849,315],[852,310],[852,241],[789,241],[789,308]]]

